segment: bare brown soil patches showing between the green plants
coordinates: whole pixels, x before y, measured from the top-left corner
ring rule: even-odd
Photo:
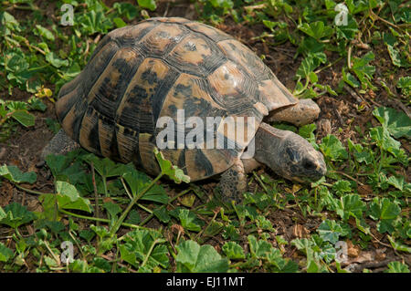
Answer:
[[[114,1],[107,0],[105,3],[111,6]],[[135,1],[130,1],[134,4]],[[39,4],[41,5],[41,4]],[[51,8],[50,8],[51,9]],[[21,17],[24,17],[26,12],[20,12]],[[197,19],[195,14],[194,5],[186,5],[184,3],[169,5],[165,2],[160,2],[155,13],[151,13],[151,16],[183,16],[189,19]],[[137,22],[137,21],[136,21]],[[269,47],[267,44],[259,41],[252,40],[255,36],[260,36],[262,31],[264,31],[264,26],[242,26],[235,23],[230,17],[225,19],[225,22],[217,26],[221,30],[227,32],[232,36],[237,37],[238,40],[245,43],[253,51],[255,51],[258,56],[265,55],[265,63],[271,68],[271,70],[276,74],[279,80],[287,87],[292,90],[295,87],[295,80],[293,77],[297,69],[300,66],[301,57],[295,58],[297,47],[292,47],[290,43],[280,45],[278,47]],[[382,45],[383,46],[383,45]],[[367,50],[359,51],[359,56],[361,57],[366,53]],[[386,53],[386,49],[381,47],[381,49],[374,49],[376,54],[375,60],[372,65],[375,66],[375,78],[385,78],[388,67],[385,66],[390,62],[390,57]],[[327,56],[331,61],[336,59],[336,54],[328,52]],[[342,61],[340,61],[342,62]],[[340,66],[340,67],[339,67]],[[319,79],[321,84],[330,85],[332,88],[338,86],[341,77],[341,66],[342,63],[337,63],[332,68],[323,69],[319,74]],[[399,71],[399,78],[401,76],[406,76],[406,70]],[[391,87],[391,91],[395,92],[393,84],[387,84]],[[45,87],[54,89],[52,84],[45,84]],[[7,91],[0,92],[1,96],[5,99],[14,100],[26,100],[30,97],[29,93],[20,91],[18,88],[14,88],[11,96],[8,95]],[[355,90],[347,93],[344,91],[343,94],[338,96],[324,95],[316,102],[321,108],[321,115],[318,120],[316,120],[317,132],[316,137],[321,140],[327,134],[334,134],[343,144],[346,145],[346,140],[350,138],[354,142],[359,139],[357,131],[353,130],[355,126],[360,127],[363,131],[368,121],[372,122],[376,126],[376,120],[373,119],[372,110],[374,107],[386,106],[397,110],[403,110],[407,114],[404,106],[396,99],[390,98],[385,92],[384,88],[380,88],[377,92],[370,92],[367,95],[360,95],[355,93]],[[363,110],[358,110],[361,106],[364,107]],[[35,126],[30,128],[18,127],[18,130],[9,139],[0,143],[0,164],[12,164],[19,167],[22,171],[36,171],[37,172],[37,182],[33,185],[25,184],[26,188],[31,188],[40,192],[51,192],[53,187],[52,176],[45,167],[39,167],[40,152],[46,146],[47,142],[53,137],[53,133],[48,130],[46,119],[52,118],[56,119],[54,104],[47,101],[46,112],[36,111],[36,123]],[[407,140],[401,140],[402,144],[406,148],[407,154],[411,150],[411,146]],[[260,171],[266,171],[264,169]],[[402,169],[399,172],[401,175],[406,177],[407,182],[410,182],[411,169]],[[276,178],[276,175],[270,171],[267,171],[272,178]],[[366,177],[354,177],[358,181],[366,179]],[[201,182],[199,185],[202,187],[204,192],[212,193],[215,181]],[[257,187],[257,184],[251,185],[251,189]],[[172,187],[173,188],[173,187]],[[367,189],[364,190],[366,192]],[[0,185],[0,206],[5,206],[8,203],[18,202],[27,206],[28,210],[36,211],[38,207],[41,207],[37,202],[37,196],[30,195],[26,192],[19,191],[13,187],[8,182],[2,182]],[[171,190],[173,192],[178,192],[176,189]],[[284,238],[289,240],[295,237],[303,237],[305,234],[313,232],[318,225],[321,223],[321,218],[304,218],[299,211],[294,211],[291,209],[286,209],[284,211],[278,211],[268,219],[273,223],[276,233],[272,234],[273,238],[275,235],[283,234]],[[374,225],[373,221],[367,220],[367,223]],[[147,225],[155,226],[155,225]],[[374,227],[373,227],[374,228]],[[1,227],[0,227],[1,230]],[[1,233],[1,232],[0,232]],[[374,234],[377,236],[381,234]],[[246,238],[247,240],[247,238]],[[220,235],[207,241],[207,244],[220,244],[223,241]],[[275,239],[274,239],[275,241]],[[214,243],[213,243],[214,242]],[[245,244],[246,245],[246,244]],[[375,245],[377,246],[377,245]],[[380,246],[378,246],[380,248]],[[290,245],[286,246],[285,257],[294,257],[296,249]],[[370,251],[370,254],[372,251]],[[376,253],[374,253],[376,254]],[[379,265],[386,265],[385,260],[395,260],[397,259],[394,251],[391,248],[386,249],[384,254],[384,260],[375,261],[374,265],[360,265],[359,270],[364,267],[374,267],[378,268]],[[409,255],[405,255],[408,265],[411,265],[411,258]]]

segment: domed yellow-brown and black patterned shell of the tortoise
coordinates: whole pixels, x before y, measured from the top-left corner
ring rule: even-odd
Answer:
[[[297,103],[271,70],[232,36],[184,18],[157,17],[104,36],[82,72],[58,94],[58,120],[88,151],[152,174],[161,117],[254,117]],[[217,125],[218,128],[218,125]],[[186,130],[186,129],[185,129]],[[247,147],[217,130],[223,149],[164,149],[192,181],[226,171]],[[216,139],[216,134],[213,136]]]

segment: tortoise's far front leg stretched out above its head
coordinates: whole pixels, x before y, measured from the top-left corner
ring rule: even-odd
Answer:
[[[290,107],[274,110],[268,121],[287,121],[296,126],[305,125],[318,118],[320,108],[311,99],[300,99],[300,101]]]

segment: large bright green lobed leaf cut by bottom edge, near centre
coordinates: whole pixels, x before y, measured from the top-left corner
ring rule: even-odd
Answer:
[[[176,247],[177,272],[226,273],[228,260],[219,255],[210,244],[199,245],[194,241],[184,241]]]

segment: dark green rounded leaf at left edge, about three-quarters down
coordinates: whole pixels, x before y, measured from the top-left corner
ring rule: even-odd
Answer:
[[[0,207],[0,224],[5,224],[15,229],[22,224],[33,221],[35,218],[36,215],[34,213],[27,211],[26,206],[19,203],[5,205],[4,210]]]

